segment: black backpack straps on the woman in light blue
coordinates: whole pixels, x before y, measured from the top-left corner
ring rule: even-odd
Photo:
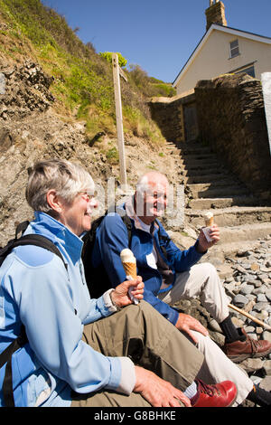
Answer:
[[[60,250],[51,242],[49,239],[45,238],[42,235],[37,234],[29,234],[25,236],[18,237],[20,233],[26,230],[29,222],[20,223],[15,231],[15,238],[9,241],[4,248],[0,248],[0,267],[2,266],[5,258],[8,254],[15,248],[20,245],[35,245],[38,247],[42,247],[45,250],[51,250],[54,254],[61,258],[63,261],[65,268],[67,266],[61,256]],[[14,339],[14,341],[8,345],[4,352],[0,354],[0,369],[5,366],[5,378],[3,382],[3,395],[6,407],[14,407],[14,392],[13,392],[13,375],[12,375],[12,354],[15,353],[19,348],[23,347],[28,342],[27,336],[25,334],[24,326],[21,328],[20,335]]]

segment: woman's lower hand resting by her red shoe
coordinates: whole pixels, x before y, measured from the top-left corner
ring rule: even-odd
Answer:
[[[154,407],[181,407],[180,401],[191,407],[191,402],[182,391],[173,387],[170,382],[159,378],[155,373],[140,366],[135,366],[134,392],[140,394]]]

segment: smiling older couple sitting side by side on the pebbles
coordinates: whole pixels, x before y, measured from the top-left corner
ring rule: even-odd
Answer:
[[[8,392],[20,407],[228,407],[246,398],[270,405],[270,393],[232,362],[264,356],[270,344],[251,341],[232,325],[216,270],[195,264],[219,240],[219,229],[213,226],[210,243],[201,231],[184,251],[164,238],[165,256],[157,233],[166,232],[156,219],[161,204],[166,206],[167,180],[150,173],[139,183],[144,190],[123,205],[133,222],[131,250],[139,276],[126,280],[119,260],[127,248],[126,226],[119,214],[110,213],[89,261],[104,262],[112,288],[94,299],[80,239],[98,205],[94,182],[81,166],[59,159],[30,170],[26,199],[34,220],[24,234],[52,241],[65,267],[51,250],[25,245],[14,248],[0,269],[0,357],[17,341],[22,325],[26,334],[12,355],[7,390],[10,371],[7,364],[0,369],[1,406],[8,404]],[[139,203],[144,211],[137,215]],[[196,295],[220,323],[223,351],[197,320],[170,307]]]

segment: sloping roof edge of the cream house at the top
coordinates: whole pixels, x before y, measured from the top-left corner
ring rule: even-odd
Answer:
[[[229,33],[232,35],[236,35],[239,37],[245,37],[250,40],[253,40],[254,42],[266,42],[266,44],[271,44],[271,37],[265,37],[263,35],[259,35],[256,33],[248,33],[248,31],[242,31],[238,30],[236,28],[231,28],[230,26],[225,26],[221,24],[211,24],[209,30],[203,35],[201,38],[201,41],[198,43],[194,51],[192,52],[192,55],[189,57],[189,59],[185,62],[185,64],[182,67],[182,70],[179,72],[175,80],[173,80],[173,87],[176,87],[178,84],[178,81],[181,79],[182,74],[187,71],[187,69],[192,64],[192,61],[194,58],[201,52],[201,49],[203,45],[208,41],[210,38],[210,34],[213,33],[213,31],[220,31],[222,33]]]

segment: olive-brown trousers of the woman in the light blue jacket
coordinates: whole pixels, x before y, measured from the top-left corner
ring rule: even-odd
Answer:
[[[107,356],[129,356],[182,392],[200,373],[204,356],[152,306],[141,301],[84,327],[83,341]],[[138,393],[74,394],[71,407],[149,407]]]

